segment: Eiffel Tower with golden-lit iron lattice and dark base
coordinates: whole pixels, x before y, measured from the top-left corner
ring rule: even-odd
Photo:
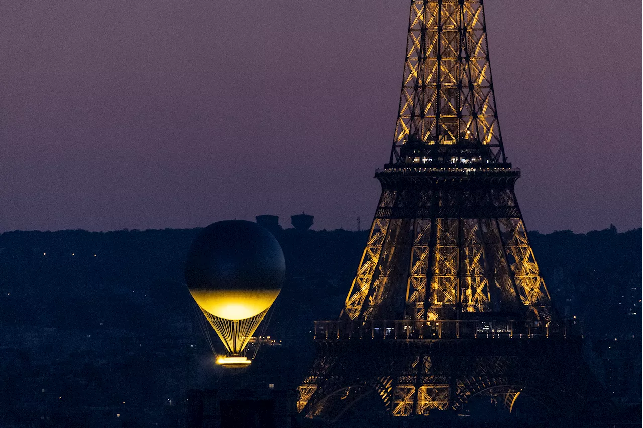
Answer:
[[[340,319],[315,323],[304,416],[334,422],[368,395],[383,415],[415,417],[474,397],[570,416],[603,400],[529,244],[486,28],[482,0],[411,2],[381,197]]]

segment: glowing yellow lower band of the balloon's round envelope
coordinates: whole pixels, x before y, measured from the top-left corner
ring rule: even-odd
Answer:
[[[199,290],[192,297],[199,306],[215,317],[240,320],[264,312],[279,294],[276,290]]]

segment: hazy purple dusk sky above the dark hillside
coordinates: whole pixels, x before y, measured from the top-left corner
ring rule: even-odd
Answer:
[[[370,225],[402,0],[0,4],[0,231]],[[527,227],[643,227],[640,0],[485,1]]]

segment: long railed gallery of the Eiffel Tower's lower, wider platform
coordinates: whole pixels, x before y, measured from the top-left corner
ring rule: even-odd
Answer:
[[[502,320],[315,321],[314,340],[453,340],[582,337],[581,321]]]

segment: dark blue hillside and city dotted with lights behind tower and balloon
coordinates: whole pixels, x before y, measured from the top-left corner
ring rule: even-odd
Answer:
[[[190,388],[226,390],[242,379],[296,388],[313,357],[312,321],[339,315],[368,232],[278,233],[287,279],[266,330],[276,343],[239,377],[213,364],[204,334],[211,329],[201,330],[183,283],[198,231],[0,235],[3,424],[116,426],[109,424],[120,415],[118,426],[177,427]],[[643,229],[532,233],[531,240],[559,312],[585,321],[602,384],[622,403],[640,403]]]

